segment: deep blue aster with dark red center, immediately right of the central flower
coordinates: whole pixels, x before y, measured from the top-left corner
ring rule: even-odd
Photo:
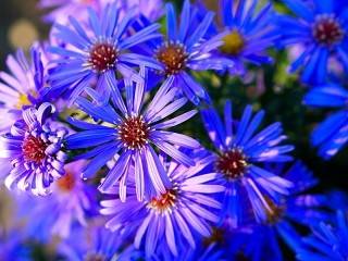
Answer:
[[[282,124],[273,123],[254,135],[259,127],[263,111],[251,119],[252,108],[248,105],[239,123],[232,117],[232,104],[225,103],[224,120],[221,122],[213,108],[201,111],[207,132],[217,149],[215,171],[226,179],[226,191],[219,200],[223,202],[221,223],[225,219],[236,227],[241,224],[243,204],[248,197],[258,222],[266,220],[266,211],[272,212],[266,197],[279,203],[281,195],[287,195],[291,183],[258,166],[262,162],[290,161],[285,154],[293,146],[279,146],[286,139],[282,134]],[[265,197],[266,196],[266,197]]]

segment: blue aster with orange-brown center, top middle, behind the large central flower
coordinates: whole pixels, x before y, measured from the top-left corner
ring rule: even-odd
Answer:
[[[166,39],[161,38],[148,41],[142,51],[154,57],[164,67],[164,72],[157,72],[151,80],[158,83],[163,75],[174,77],[174,86],[181,89],[188,99],[199,105],[202,98],[210,103],[206,89],[197,83],[186,71],[224,70],[233,65],[227,59],[214,57],[211,51],[223,44],[225,33],[216,34],[210,38],[204,34],[213,20],[213,13],[208,12],[200,23],[197,23],[197,10],[189,0],[184,2],[181,23],[177,23],[175,9],[172,3],[165,5],[166,10]]]

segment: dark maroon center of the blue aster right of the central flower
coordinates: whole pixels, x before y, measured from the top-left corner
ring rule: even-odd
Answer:
[[[227,179],[245,175],[247,169],[247,157],[237,148],[225,151],[215,160],[215,170],[223,173]]]

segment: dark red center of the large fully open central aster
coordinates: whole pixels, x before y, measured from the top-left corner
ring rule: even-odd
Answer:
[[[120,139],[127,149],[141,149],[151,133],[142,115],[127,117],[119,127]]]

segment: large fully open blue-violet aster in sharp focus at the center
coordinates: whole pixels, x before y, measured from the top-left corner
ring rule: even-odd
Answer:
[[[146,77],[144,69],[140,71],[140,76]],[[115,165],[99,187],[102,192],[121,179],[120,194],[121,199],[125,201],[128,170],[132,164],[135,164],[136,169],[137,197],[140,201],[145,191],[148,192],[148,197],[153,194],[160,198],[160,195],[166,191],[165,187],[172,187],[150,142],[184,165],[195,164],[194,160],[173,145],[195,149],[199,148],[200,144],[185,135],[162,129],[187,121],[197,111],[191,110],[172,120],[159,122],[177,111],[187,101],[186,98],[173,100],[177,92],[176,88],[171,88],[173,80],[174,77],[167,78],[144,112],[141,112],[141,108],[146,86],[140,83],[126,84],[126,102],[123,101],[119,89],[113,89],[113,105],[120,110],[121,115],[111,104],[102,104],[100,102],[102,97],[92,89],[88,88],[86,91],[98,104],[82,97],[76,98],[75,105],[77,108],[96,120],[109,123],[109,125],[100,125],[70,119],[73,125],[83,130],[67,137],[69,149],[92,148],[76,157],[76,159],[94,158],[83,171],[83,177],[91,177],[115,154],[120,154]],[[109,84],[112,86],[111,83]]]

